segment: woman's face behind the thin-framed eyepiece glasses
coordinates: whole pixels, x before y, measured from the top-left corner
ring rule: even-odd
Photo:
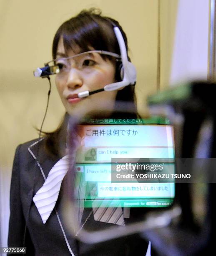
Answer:
[[[56,58],[70,57],[82,52],[80,49],[73,52],[65,52],[63,38],[58,43]],[[103,88],[106,84],[115,82],[116,67],[110,60],[104,60],[100,54],[85,54],[67,60],[58,60],[60,73],[56,74],[55,84],[65,107],[65,110],[73,115],[80,108],[89,110],[114,109],[117,91],[99,92],[86,98],[78,98],[79,92],[93,91]],[[67,68],[66,68],[67,66]]]

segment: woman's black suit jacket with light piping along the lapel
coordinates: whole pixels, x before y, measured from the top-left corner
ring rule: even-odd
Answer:
[[[58,158],[48,157],[45,153],[44,140],[42,140],[39,143],[39,166],[35,164],[34,158],[38,150],[37,142],[35,140],[24,143],[18,146],[15,152],[10,188],[8,246],[23,247],[26,224],[25,247],[27,247],[27,255],[70,255],[55,211],[53,210],[46,224],[43,224],[32,200],[44,183],[40,168],[43,169],[47,177],[50,169],[59,160]],[[58,199],[56,208],[62,220],[59,201]],[[86,225],[92,225],[94,222],[95,220],[91,216]],[[99,225],[108,226],[112,224],[99,223]],[[64,223],[63,227],[75,256],[144,256],[146,254],[147,243],[138,234],[90,245],[71,237],[67,233]]]

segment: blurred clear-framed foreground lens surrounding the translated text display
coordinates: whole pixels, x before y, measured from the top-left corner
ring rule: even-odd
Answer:
[[[138,190],[135,193],[132,189],[130,191],[121,190],[120,192],[114,190],[112,188],[115,184],[112,184],[113,180],[111,182],[111,175],[109,175],[111,174],[111,164],[113,164],[111,158],[126,159],[123,154],[128,154],[127,157],[131,157],[131,159],[142,159],[144,156],[151,159],[153,156],[156,157],[157,153],[158,158],[173,159],[173,132],[171,125],[166,122],[166,118],[142,120],[137,117],[136,112],[130,108],[128,102],[117,102],[118,111],[114,117],[111,117],[107,107],[111,104],[103,105],[104,102],[101,102],[98,111],[94,108],[94,111],[91,111],[92,108],[83,107],[79,113],[76,113],[76,116],[70,117],[67,130],[67,149],[71,161],[64,183],[64,217],[70,233],[85,243],[99,243],[143,230],[164,227],[181,214],[179,207],[171,205],[174,198],[173,183],[169,184],[172,188],[169,190],[172,192],[169,197],[165,190],[162,192],[161,189],[158,192],[156,189],[152,189],[152,194],[157,193],[159,195],[159,198],[156,198],[156,196],[149,196],[150,192],[148,191]],[[105,111],[102,110],[106,110],[106,116]],[[83,128],[80,127],[81,125]],[[162,133],[162,131],[164,132]],[[163,143],[162,146],[161,143]],[[133,154],[123,153],[125,151]],[[99,154],[99,152],[103,154]],[[164,156],[165,153],[166,157]],[[125,163],[125,160],[122,161],[121,163]],[[132,184],[126,184],[129,181],[121,182],[125,183],[127,188],[132,187]],[[100,190],[101,184],[105,184],[107,189]],[[136,185],[141,184],[136,180]],[[116,188],[118,186],[121,184],[115,185]],[[154,184],[151,184],[151,187],[153,186]],[[128,192],[127,196],[124,194],[126,192]],[[140,192],[142,192],[141,196]],[[164,196],[165,193],[166,196]],[[133,198],[134,195],[137,198]],[[126,202],[127,200],[128,202]],[[131,203],[130,200],[134,200],[134,202]],[[148,200],[151,201],[150,203],[157,200],[160,202],[149,206],[149,202],[148,204],[144,202]],[[170,202],[159,204],[163,200]],[[139,201],[142,204],[140,203],[139,207],[133,207],[133,203],[136,206]],[[129,207],[135,208],[135,210],[131,210],[131,215]],[[104,213],[109,213],[105,221],[101,220],[103,212],[101,212],[100,218],[96,216],[101,208],[104,208]],[[105,210],[105,208],[108,209]],[[116,224],[116,222],[110,222],[117,211],[115,208],[121,210],[125,225],[113,225],[112,223]],[[121,218],[120,215],[119,218]]]

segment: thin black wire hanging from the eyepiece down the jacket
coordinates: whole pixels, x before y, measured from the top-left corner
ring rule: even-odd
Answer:
[[[33,188],[32,188],[32,193],[31,193],[31,200],[30,200],[30,205],[28,207],[28,213],[26,215],[26,219],[25,219],[25,230],[24,230],[24,234],[23,234],[23,247],[25,247],[25,238],[26,238],[26,230],[27,230],[27,222],[28,222],[28,218],[29,218],[29,213],[30,213],[30,207],[33,201],[33,197],[34,197],[34,189],[35,189],[35,179],[36,179],[36,166],[37,166],[37,162],[38,162],[38,154],[39,154],[39,143],[40,143],[40,136],[41,136],[41,132],[43,129],[43,123],[44,120],[46,118],[47,115],[47,110],[48,110],[48,106],[49,106],[49,101],[50,101],[50,92],[51,92],[51,82],[50,82],[50,77],[47,77],[48,81],[49,81],[49,91],[48,91],[48,96],[47,96],[47,105],[46,105],[46,110],[44,113],[44,117],[43,117],[43,121],[41,123],[40,126],[40,131],[39,131],[39,137],[38,137],[38,149],[37,149],[37,154],[36,154],[36,159],[35,159],[35,165],[34,165],[34,172],[33,172]],[[24,254],[23,254],[24,255]]]

